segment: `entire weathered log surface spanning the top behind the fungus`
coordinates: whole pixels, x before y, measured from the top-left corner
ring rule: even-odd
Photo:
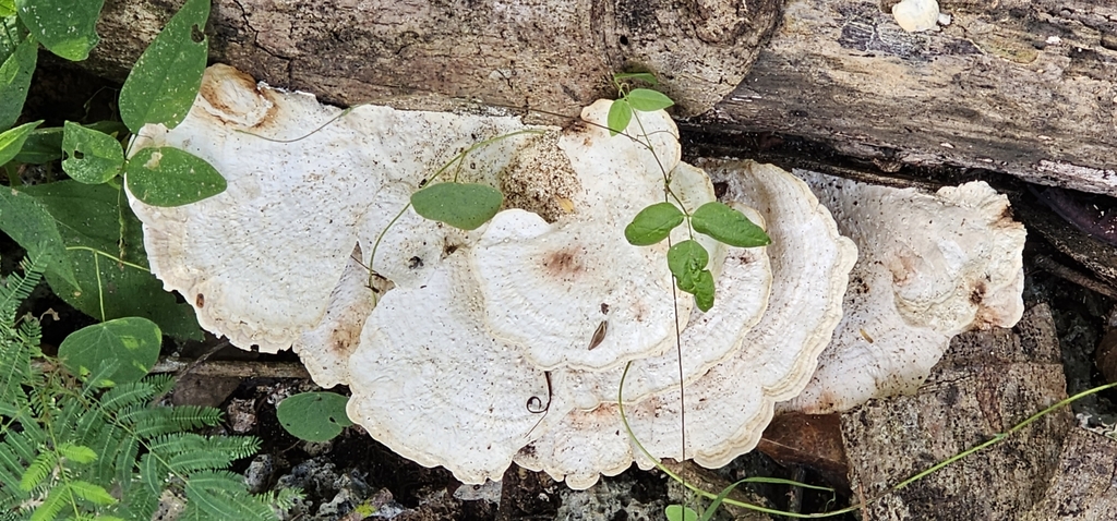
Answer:
[[[1117,195],[1117,4],[942,0],[951,23],[908,33],[892,0],[791,0],[765,45],[784,1],[214,0],[209,32],[213,60],[332,103],[576,114],[613,94],[611,73],[647,67],[679,116],[724,96],[682,125],[723,153],[774,133],[887,174],[946,165]],[[109,0],[89,66],[123,78],[179,3]]]

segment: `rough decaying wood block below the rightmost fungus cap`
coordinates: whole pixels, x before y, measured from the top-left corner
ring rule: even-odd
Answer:
[[[919,394],[872,401],[842,416],[853,493],[861,500],[882,494],[1063,398],[1046,305],[1028,310],[1011,331],[960,335]],[[1071,423],[1066,409],[1044,416],[870,504],[866,519],[1019,519],[1047,493]]]

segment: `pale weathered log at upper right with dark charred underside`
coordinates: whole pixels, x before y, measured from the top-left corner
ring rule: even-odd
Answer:
[[[952,21],[924,33],[892,3],[789,2],[745,81],[688,127],[804,137],[884,172],[945,164],[1117,195],[1117,3],[939,0]]]

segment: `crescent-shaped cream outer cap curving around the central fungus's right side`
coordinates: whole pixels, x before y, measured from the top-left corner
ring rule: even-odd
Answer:
[[[716,467],[751,451],[772,418],[775,403],[806,385],[841,318],[857,249],[839,235],[830,212],[808,186],[787,172],[753,162],[706,161],[699,166],[727,184],[727,200],[756,209],[772,238],[766,249],[772,268],[767,309],[731,356],[685,388],[685,455]],[[735,269],[733,259],[739,253],[728,250],[723,278]],[[710,313],[717,306],[715,301]],[[687,330],[696,326],[701,322],[693,320]],[[707,334],[716,334],[715,329]],[[689,341],[705,338],[690,337],[682,345],[684,353]],[[656,459],[682,459],[678,419],[682,409],[677,388],[626,405],[634,436]],[[516,455],[518,464],[546,471],[574,489],[589,488],[601,474],[619,473],[633,461],[643,469],[653,464],[629,440],[615,401],[590,411],[572,409]]]

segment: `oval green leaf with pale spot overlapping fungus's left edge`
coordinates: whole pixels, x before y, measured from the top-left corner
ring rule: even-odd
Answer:
[[[144,148],[124,165],[128,191],[152,206],[181,206],[225,192],[206,160],[170,146]]]

